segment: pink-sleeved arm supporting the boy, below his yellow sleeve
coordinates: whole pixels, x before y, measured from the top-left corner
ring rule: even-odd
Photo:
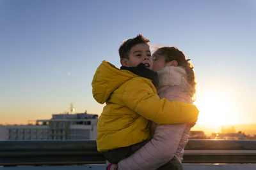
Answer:
[[[118,162],[122,169],[157,169],[173,158],[186,124],[157,125],[153,138],[127,159]]]

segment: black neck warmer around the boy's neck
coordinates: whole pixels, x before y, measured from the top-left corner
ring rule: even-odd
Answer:
[[[125,67],[122,66],[120,69],[126,69],[128,71],[131,71],[134,74],[137,74],[138,76],[148,78],[152,80],[152,83],[155,87],[158,86],[158,75],[156,72],[152,71],[151,69],[148,69],[145,64],[140,63],[137,67]]]

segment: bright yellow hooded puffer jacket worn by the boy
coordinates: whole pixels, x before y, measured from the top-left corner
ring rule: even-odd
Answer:
[[[151,80],[107,61],[97,68],[92,80],[95,100],[106,103],[98,122],[97,148],[106,152],[149,139],[148,120],[157,124],[196,122],[193,104],[159,99]]]

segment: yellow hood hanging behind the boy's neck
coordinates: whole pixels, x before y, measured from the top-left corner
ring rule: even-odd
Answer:
[[[97,68],[92,80],[92,94],[94,99],[104,104],[111,93],[125,81],[137,75],[127,70],[121,70],[104,60]]]

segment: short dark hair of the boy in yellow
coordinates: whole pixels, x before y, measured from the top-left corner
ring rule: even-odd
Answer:
[[[148,44],[149,41],[149,39],[143,37],[141,34],[138,34],[136,38],[127,39],[118,49],[120,59],[129,59],[129,52],[132,46],[140,43]]]

